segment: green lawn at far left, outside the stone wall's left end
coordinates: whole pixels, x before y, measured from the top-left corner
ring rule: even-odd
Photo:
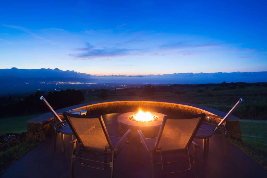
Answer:
[[[0,135],[5,133],[27,132],[27,120],[40,116],[41,114],[3,118],[0,119]]]

